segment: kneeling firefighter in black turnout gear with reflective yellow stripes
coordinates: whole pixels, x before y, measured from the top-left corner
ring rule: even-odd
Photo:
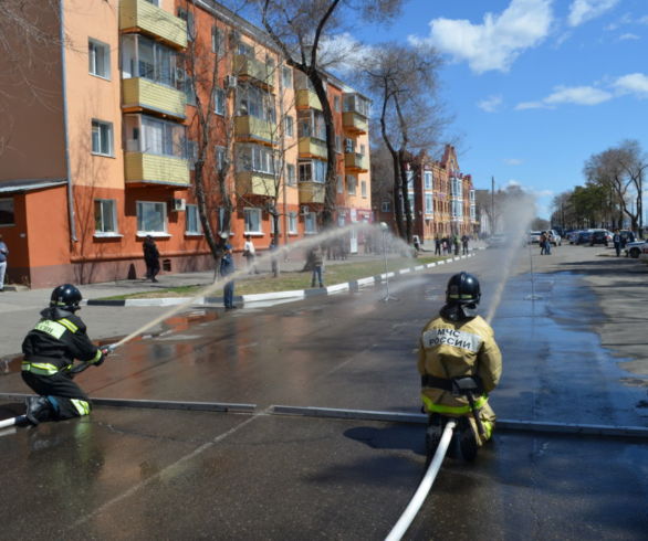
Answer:
[[[72,367],[75,359],[98,367],[108,350],[90,341],[85,323],[74,314],[81,299],[73,285],[56,287],[22,342],[22,379],[40,395],[27,399],[27,418],[33,425],[90,414],[90,399],[72,381]]]

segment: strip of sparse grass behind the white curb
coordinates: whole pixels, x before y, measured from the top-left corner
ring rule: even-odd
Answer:
[[[411,268],[426,263],[433,263],[446,257],[418,257],[416,259],[408,257],[393,257],[387,259],[387,272],[396,272],[401,268]],[[376,276],[385,272],[384,261],[370,261],[360,263],[337,263],[334,265],[324,264],[324,285],[333,286],[346,282]],[[209,284],[202,286],[180,286],[155,291],[133,293],[127,295],[116,295],[105,297],[105,299],[138,299],[138,298],[168,298],[168,297],[192,297]],[[236,280],[234,295],[253,295],[260,293],[290,291],[293,289],[307,289],[311,287],[310,272],[291,272],[281,273],[276,278],[270,274],[245,275]],[[209,294],[210,296],[220,297],[221,288]]]

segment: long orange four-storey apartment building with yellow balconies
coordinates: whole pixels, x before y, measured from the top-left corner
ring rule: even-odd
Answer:
[[[0,78],[0,232],[11,282],[143,276],[148,234],[163,269],[210,268],[194,187],[205,140],[208,219],[222,232],[221,174],[234,251],[248,234],[259,250],[270,245],[272,206],[282,243],[317,233],[327,156],[321,105],[260,29],[206,0],[61,0],[58,13],[32,0],[30,8],[53,43],[38,54],[25,49],[28,77],[12,77],[18,72],[0,59],[9,74]],[[215,74],[212,86],[190,57]],[[335,77],[326,83],[336,220],[372,221],[369,102]],[[207,131],[199,104],[210,113]],[[357,238],[347,242],[357,250]]]

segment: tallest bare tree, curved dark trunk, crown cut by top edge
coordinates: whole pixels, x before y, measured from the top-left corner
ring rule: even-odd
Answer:
[[[282,52],[285,62],[309,78],[324,115],[326,127],[326,185],[322,222],[333,223],[336,199],[336,153],[333,112],[328,104],[325,76],[320,63],[323,41],[344,29],[349,12],[359,10],[368,20],[386,20],[403,0],[255,0],[265,31]],[[356,18],[362,19],[362,17]]]

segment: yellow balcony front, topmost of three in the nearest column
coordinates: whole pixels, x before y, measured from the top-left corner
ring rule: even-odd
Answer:
[[[176,49],[187,46],[187,23],[146,0],[119,2],[119,30],[142,32]]]

